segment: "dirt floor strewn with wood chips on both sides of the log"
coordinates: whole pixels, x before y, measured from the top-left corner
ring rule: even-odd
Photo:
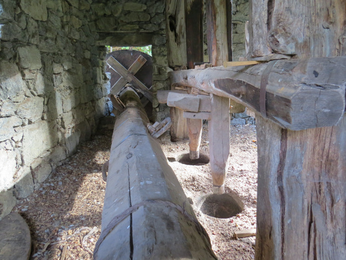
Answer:
[[[106,186],[101,166],[109,159],[111,135],[112,131],[100,131],[32,195],[18,201],[14,211],[27,220],[32,233],[31,259],[92,259],[100,235]],[[234,232],[256,227],[255,125],[231,126],[231,157],[225,185],[228,195],[219,197],[211,196],[212,177],[210,165],[206,164],[207,124],[203,125],[200,149],[205,160],[196,166],[183,164],[189,163],[185,155],[189,153],[188,141],[171,143],[166,134],[160,143],[219,259],[254,259],[255,237],[236,239]]]

